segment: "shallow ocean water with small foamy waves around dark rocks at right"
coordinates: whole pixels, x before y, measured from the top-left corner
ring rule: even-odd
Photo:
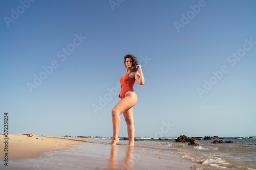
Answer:
[[[176,138],[138,139],[168,148],[170,152],[178,151],[182,154],[181,158],[197,163],[191,167],[192,169],[256,169],[256,137],[196,140],[198,146],[190,146],[188,142],[175,142]],[[213,143],[214,140],[231,140],[233,143]]]

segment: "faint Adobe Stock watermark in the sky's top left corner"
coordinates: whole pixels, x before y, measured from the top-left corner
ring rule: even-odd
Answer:
[[[35,2],[36,0],[20,0],[19,3],[21,4],[20,6],[17,7],[16,11],[12,8],[11,11],[11,18],[5,16],[4,20],[5,23],[7,25],[7,27],[10,27],[10,23],[14,22],[16,19],[19,18],[20,14],[23,14],[25,12],[26,9],[28,9],[30,7],[30,3]]]

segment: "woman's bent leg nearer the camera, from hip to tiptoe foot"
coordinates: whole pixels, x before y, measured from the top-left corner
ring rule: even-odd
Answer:
[[[112,110],[112,123],[113,123],[113,137],[111,144],[116,144],[120,129],[120,114],[124,111],[129,110],[137,103],[137,95],[133,92],[126,93],[125,98],[123,98]]]

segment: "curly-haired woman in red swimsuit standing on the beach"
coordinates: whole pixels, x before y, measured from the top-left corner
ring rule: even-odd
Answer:
[[[123,113],[127,125],[129,145],[134,146],[133,107],[137,103],[137,95],[133,90],[133,85],[135,80],[140,85],[143,85],[144,76],[141,66],[138,65],[137,58],[134,55],[128,54],[124,56],[124,65],[127,71],[120,79],[121,92],[118,95],[118,98],[122,98],[122,100],[112,110],[113,138],[111,144],[116,144],[119,141],[120,114]]]

